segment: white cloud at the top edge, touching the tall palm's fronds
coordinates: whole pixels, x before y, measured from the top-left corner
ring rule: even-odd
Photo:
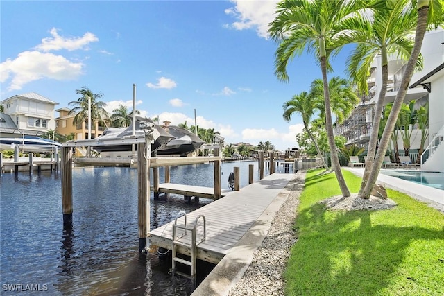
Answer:
[[[268,38],[268,24],[274,19],[277,0],[246,1],[230,0],[234,7],[225,9],[225,14],[234,16],[237,21],[225,27],[236,30],[255,28],[259,37]]]

